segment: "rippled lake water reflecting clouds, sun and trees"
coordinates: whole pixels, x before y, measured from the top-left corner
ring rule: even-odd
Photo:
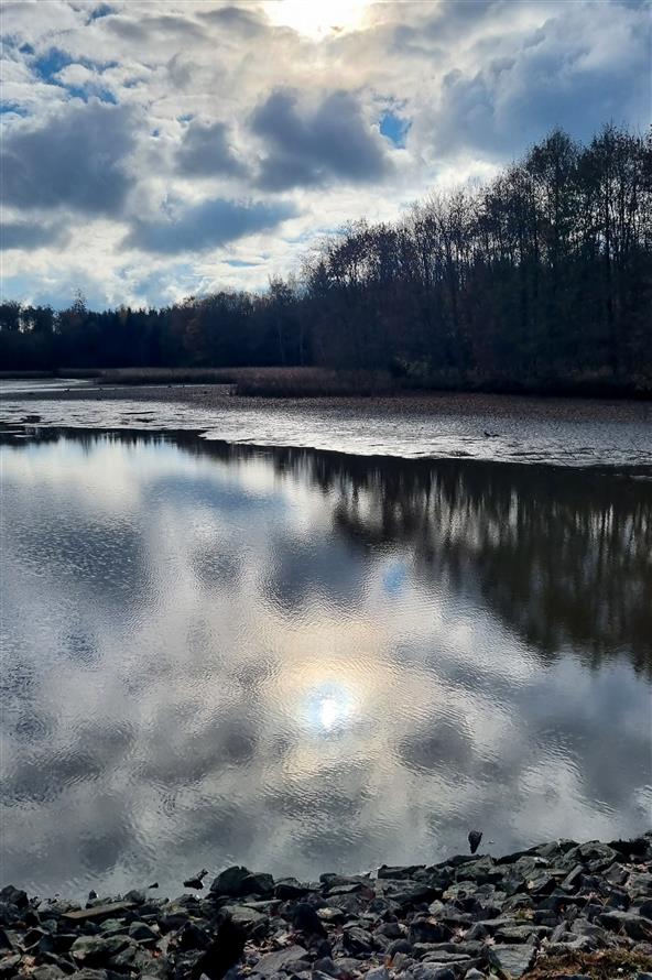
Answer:
[[[9,433],[2,880],[313,878],[650,825],[652,482]]]

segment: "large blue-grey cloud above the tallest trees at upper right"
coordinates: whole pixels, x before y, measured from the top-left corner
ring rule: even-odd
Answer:
[[[503,37],[499,45],[495,37],[479,39],[471,50],[476,67],[454,68],[444,77],[438,106],[426,112],[422,131],[430,127],[443,154],[464,149],[504,160],[553,127],[588,140],[611,119],[644,126],[649,92],[640,79],[649,53],[642,12],[638,17],[638,9],[630,8],[619,25],[631,39],[623,57],[600,48],[597,28],[593,44],[591,26],[564,9],[563,15]]]

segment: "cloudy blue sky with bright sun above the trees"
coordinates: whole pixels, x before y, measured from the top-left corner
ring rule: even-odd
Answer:
[[[553,127],[650,122],[639,0],[1,8],[3,298],[263,290]]]

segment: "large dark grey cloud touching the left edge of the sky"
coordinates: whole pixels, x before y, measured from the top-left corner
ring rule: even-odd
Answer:
[[[2,202],[115,217],[132,185],[123,164],[133,142],[129,111],[95,99],[37,128],[15,127],[2,141]]]

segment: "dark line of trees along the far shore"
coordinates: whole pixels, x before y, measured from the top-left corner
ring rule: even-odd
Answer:
[[[325,366],[415,385],[652,390],[652,138],[555,130],[482,186],[351,224],[263,294],[0,306],[4,370]]]

